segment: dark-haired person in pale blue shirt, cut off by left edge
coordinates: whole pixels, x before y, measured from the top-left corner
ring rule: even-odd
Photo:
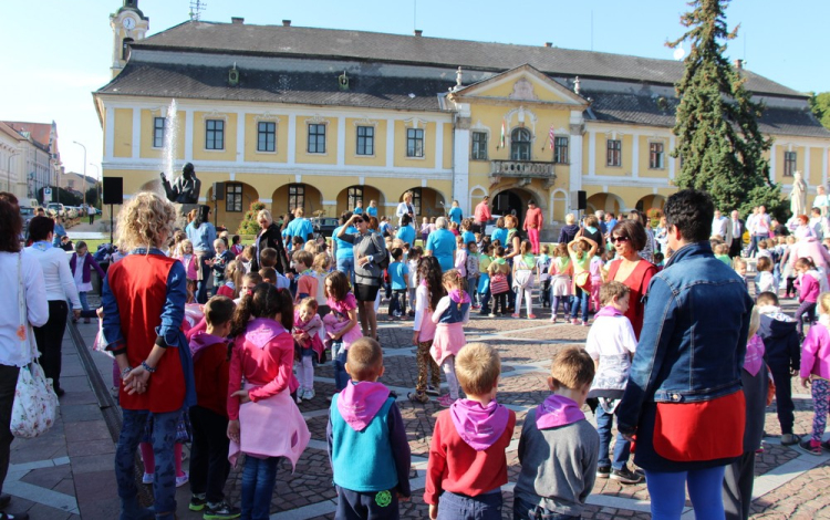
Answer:
[[[22,229],[17,197],[0,193],[0,281],[7,291],[0,303],[0,510],[11,501],[2,493],[2,485],[14,439],[10,426],[18,376],[34,360],[32,326],[43,326],[49,320],[43,270],[29,252],[21,251]],[[0,512],[0,520],[28,518],[25,513]]]

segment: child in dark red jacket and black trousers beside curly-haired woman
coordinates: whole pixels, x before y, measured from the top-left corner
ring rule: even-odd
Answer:
[[[190,337],[194,360],[196,397],[190,408],[193,459],[190,460],[190,511],[205,517],[235,518],[240,514],[225,501],[225,481],[230,472],[228,462],[228,334],[236,305],[227,297],[214,297],[205,305],[207,329]]]

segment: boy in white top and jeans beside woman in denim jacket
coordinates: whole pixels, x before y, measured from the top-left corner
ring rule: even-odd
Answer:
[[[596,476],[619,480],[621,483],[640,483],[643,476],[629,469],[631,441],[616,435],[614,460],[609,458],[611,446],[611,427],[614,423],[614,410],[625,392],[629,382],[631,360],[636,351],[637,340],[631,322],[625,318],[629,310],[631,290],[615,281],[602,285],[600,301],[602,309],[594,316],[591,331],[588,333],[585,352],[591,356],[596,368],[596,376],[589,397],[598,398],[596,431],[600,434],[600,459]]]

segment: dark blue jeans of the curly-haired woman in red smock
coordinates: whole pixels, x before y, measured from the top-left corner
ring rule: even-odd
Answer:
[[[173,445],[176,444],[176,425],[180,410],[153,414],[153,456],[156,472],[153,475],[153,498],[156,514],[176,511],[176,466],[173,460]],[[124,409],[124,423],[115,447],[115,480],[122,501],[135,501],[135,453],[144,434],[149,412],[146,409]]]

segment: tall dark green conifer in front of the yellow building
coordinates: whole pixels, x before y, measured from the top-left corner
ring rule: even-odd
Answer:
[[[785,201],[780,186],[769,180],[764,157],[771,139],[757,123],[764,105],[753,101],[745,79],[724,56],[726,41],[738,30],[727,29],[727,4],[728,0],[691,1],[693,10],[681,17],[688,31],[666,43],[675,48],[688,41],[692,46],[676,85],[679,105],[673,132],[678,143],[672,155],[682,163],[675,184],[708,191],[723,211],[738,209],[746,216],[747,208],[762,200],[770,214],[779,215]]]

